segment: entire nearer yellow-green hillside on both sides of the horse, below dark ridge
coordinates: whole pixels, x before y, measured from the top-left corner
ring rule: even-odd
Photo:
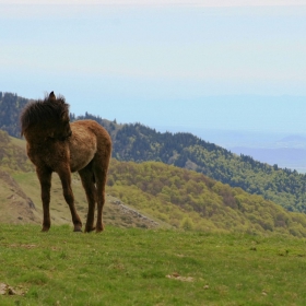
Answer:
[[[10,148],[12,153],[10,163],[4,164],[9,174],[2,176],[0,209],[3,213],[0,214],[0,222],[40,223],[43,212],[38,179],[31,164],[32,170],[22,170],[23,164],[30,163],[25,156],[24,142],[5,137],[7,144],[2,150],[5,154]],[[14,165],[13,170],[10,165]],[[76,174],[73,175],[72,188],[78,212],[84,222],[87,204]],[[104,213],[106,224],[306,237],[305,214],[290,213],[260,196],[249,195],[240,188],[231,188],[197,172],[163,163],[137,164],[113,158],[107,193]],[[71,224],[56,174],[52,177],[50,210],[52,224]]]

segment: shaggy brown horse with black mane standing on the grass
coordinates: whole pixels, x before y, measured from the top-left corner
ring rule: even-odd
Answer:
[[[71,189],[71,172],[79,172],[89,202],[85,232],[102,232],[102,211],[105,203],[105,184],[111,153],[111,140],[107,131],[93,120],[69,122],[69,105],[54,92],[44,101],[25,106],[21,115],[22,134],[26,139],[26,152],[36,166],[40,181],[44,209],[43,232],[50,228],[51,174],[61,180],[63,197],[68,203],[74,232],[81,232]],[[94,226],[95,204],[97,221]]]

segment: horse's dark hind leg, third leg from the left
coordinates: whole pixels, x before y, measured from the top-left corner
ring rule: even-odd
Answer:
[[[89,202],[87,221],[85,225],[85,233],[92,232],[94,227],[94,216],[95,216],[95,202],[96,202],[96,187],[94,185],[93,172],[90,166],[79,170],[82,185],[86,192],[86,198]]]

